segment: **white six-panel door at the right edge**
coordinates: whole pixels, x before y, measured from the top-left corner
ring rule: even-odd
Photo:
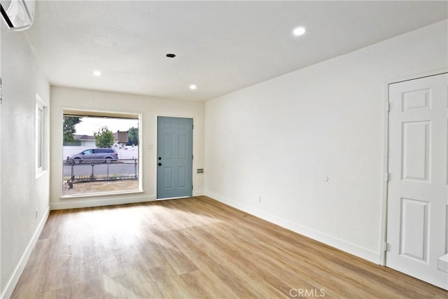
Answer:
[[[448,290],[448,76],[389,85],[386,266]]]

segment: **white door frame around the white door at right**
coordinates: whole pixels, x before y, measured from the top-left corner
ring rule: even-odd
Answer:
[[[384,131],[383,131],[383,179],[382,179],[382,204],[381,204],[381,244],[379,246],[379,263],[380,265],[383,265],[386,267],[386,242],[387,242],[387,204],[388,204],[388,150],[389,150],[389,85],[394,83],[400,83],[404,81],[411,81],[416,80],[420,78],[430,77],[430,76],[437,76],[440,74],[444,74],[448,72],[448,68],[444,69],[435,69],[433,71],[427,71],[425,73],[420,74],[414,74],[399,78],[391,78],[386,81],[384,81],[384,100],[383,100],[383,118],[384,118]]]

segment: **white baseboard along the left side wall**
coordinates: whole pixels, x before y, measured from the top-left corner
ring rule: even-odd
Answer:
[[[18,265],[15,267],[13,275],[11,275],[10,279],[6,283],[5,289],[3,290],[3,293],[1,294],[0,298],[7,299],[10,298],[11,295],[13,295],[14,288],[20,279],[20,275],[22,275],[22,272],[25,269],[25,266],[27,265],[29,256],[31,255],[31,252],[34,249],[34,246],[36,245],[39,236],[41,235],[43,225],[45,225],[45,223],[47,222],[48,215],[50,215],[50,207],[48,207],[48,209],[45,211],[45,214],[43,215],[41,221],[37,225],[33,237],[31,237],[31,240],[29,240],[28,246],[25,249],[24,253],[22,254],[22,257],[20,258]]]

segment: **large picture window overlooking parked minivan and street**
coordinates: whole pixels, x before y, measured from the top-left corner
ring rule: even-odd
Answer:
[[[64,110],[64,197],[141,190],[139,114]]]

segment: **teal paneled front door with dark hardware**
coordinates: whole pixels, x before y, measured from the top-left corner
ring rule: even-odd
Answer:
[[[193,195],[193,119],[158,117],[157,198]]]

